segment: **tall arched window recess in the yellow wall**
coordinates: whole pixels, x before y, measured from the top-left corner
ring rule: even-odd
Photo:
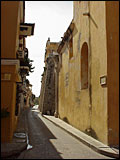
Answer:
[[[88,88],[88,45],[83,43],[81,49],[81,89]]]

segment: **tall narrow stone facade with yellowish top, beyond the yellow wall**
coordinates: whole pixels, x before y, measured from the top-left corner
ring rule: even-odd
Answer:
[[[39,109],[42,114],[54,115],[57,106],[57,66],[58,54],[56,53],[58,43],[46,43],[45,67],[42,74],[42,85],[40,93]]]

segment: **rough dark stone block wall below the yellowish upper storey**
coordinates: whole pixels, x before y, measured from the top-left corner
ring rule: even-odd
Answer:
[[[39,109],[42,114],[57,114],[58,99],[58,56],[50,54],[46,60],[46,67],[42,74]]]

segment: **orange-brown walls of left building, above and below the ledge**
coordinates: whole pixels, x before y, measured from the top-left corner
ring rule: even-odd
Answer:
[[[16,59],[19,47],[20,22],[23,22],[22,1],[1,2],[1,58]],[[14,63],[14,62],[13,62]],[[20,75],[16,65],[1,65],[1,108],[8,107],[10,116],[1,119],[1,141],[11,142],[17,127],[15,116],[16,82]]]

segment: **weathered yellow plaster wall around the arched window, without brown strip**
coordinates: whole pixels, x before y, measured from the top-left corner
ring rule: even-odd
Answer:
[[[88,12],[90,15],[87,14]],[[108,112],[107,87],[109,84],[100,83],[100,77],[108,78],[107,73],[111,70],[107,66],[109,55],[107,55],[105,1],[75,1],[74,23],[78,32],[73,37],[73,58],[69,60],[68,49],[62,54],[62,68],[59,73],[59,116],[81,131],[86,132],[91,128],[88,134],[108,144],[108,113],[110,112]],[[81,48],[84,42],[88,45],[87,89],[81,89]],[[116,79],[117,83],[117,74]],[[112,93],[112,89],[110,92]],[[116,103],[118,104],[118,101]],[[113,123],[109,121],[109,125],[110,123],[113,127]]]

